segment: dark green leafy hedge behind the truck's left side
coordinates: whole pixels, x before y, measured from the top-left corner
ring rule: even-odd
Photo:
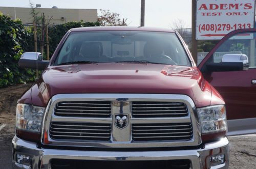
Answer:
[[[49,30],[50,56],[66,32],[74,27],[99,26],[99,22],[68,22]],[[39,48],[38,48],[39,49]],[[35,81],[35,71],[18,67],[22,53],[34,51],[34,36],[19,19],[11,20],[0,13],[0,88]]]

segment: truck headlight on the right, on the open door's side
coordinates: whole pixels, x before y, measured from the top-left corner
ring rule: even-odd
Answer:
[[[198,108],[202,133],[211,133],[227,130],[225,105]]]

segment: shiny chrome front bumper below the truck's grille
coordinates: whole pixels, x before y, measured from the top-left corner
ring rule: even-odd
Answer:
[[[203,149],[176,150],[176,151],[138,151],[138,152],[114,152],[114,151],[78,151],[56,150],[38,148],[35,143],[28,142],[14,136],[13,167],[23,168],[16,162],[16,154],[30,156],[31,168],[51,168],[51,159],[76,159],[76,160],[178,160],[189,159],[193,168],[228,168],[229,147],[228,139],[222,138],[218,142],[209,143]],[[225,162],[220,165],[210,166],[210,156],[217,154],[225,155]]]

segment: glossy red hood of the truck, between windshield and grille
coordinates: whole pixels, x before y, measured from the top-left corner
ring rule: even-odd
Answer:
[[[196,67],[161,64],[81,64],[46,69],[32,87],[34,105],[46,106],[56,94],[184,94],[197,107],[210,105],[211,86]]]

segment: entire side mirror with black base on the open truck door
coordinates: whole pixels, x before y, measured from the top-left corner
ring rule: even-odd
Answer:
[[[248,70],[249,60],[245,54],[224,54],[220,63],[206,64],[209,72]]]

